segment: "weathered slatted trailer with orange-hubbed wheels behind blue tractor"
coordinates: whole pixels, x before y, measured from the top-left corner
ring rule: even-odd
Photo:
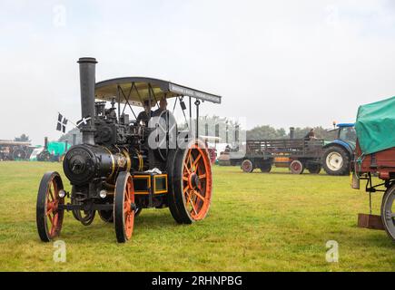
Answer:
[[[318,174],[323,146],[324,140],[320,139],[247,140],[246,154],[239,161],[248,173],[253,169],[270,172],[275,165],[288,167],[293,174],[301,174],[304,169]]]

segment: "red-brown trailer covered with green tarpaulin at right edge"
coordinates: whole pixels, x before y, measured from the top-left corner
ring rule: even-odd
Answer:
[[[355,129],[352,188],[360,189],[360,180],[366,180],[365,190],[370,196],[370,214],[359,215],[359,226],[384,228],[395,242],[395,97],[360,106]],[[371,210],[371,194],[375,192],[384,193],[379,219]]]

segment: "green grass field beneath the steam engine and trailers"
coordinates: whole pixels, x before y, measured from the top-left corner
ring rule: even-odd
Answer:
[[[61,164],[0,162],[1,271],[395,271],[385,232],[356,227],[368,196],[350,189],[348,177],[236,167],[214,167],[212,208],[202,222],[180,226],[167,208],[145,209],[123,245],[112,224],[96,217],[84,227],[65,214],[59,239],[67,261],[54,263],[54,244],[42,243],[35,228],[36,190],[52,169],[61,172]],[[338,263],[326,262],[328,240],[339,243]]]

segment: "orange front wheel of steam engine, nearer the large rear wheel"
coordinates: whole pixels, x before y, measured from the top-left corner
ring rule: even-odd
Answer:
[[[129,172],[123,171],[116,179],[114,196],[114,227],[118,243],[132,237],[134,210],[133,179]]]

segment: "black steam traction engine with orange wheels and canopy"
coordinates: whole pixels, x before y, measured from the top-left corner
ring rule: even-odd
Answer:
[[[198,120],[201,102],[220,103],[221,97],[150,78],[95,83],[95,59],[81,58],[78,63],[83,144],[64,156],[71,192],[64,191],[58,172],[47,172],[41,180],[36,204],[40,238],[47,242],[60,234],[64,210],[72,211],[85,226],[93,222],[96,212],[104,222],[114,222],[120,243],[132,236],[134,218],[142,208],[168,207],[181,224],[205,218],[212,197],[212,171],[204,143],[193,138],[199,136],[191,128],[193,104]],[[133,112],[132,106],[170,98],[173,110],[179,104],[184,116],[184,99],[189,98],[189,131],[177,131],[169,110],[158,110],[157,118],[149,116],[148,126],[129,121],[124,113],[127,106]],[[106,108],[108,102],[110,108]],[[174,139],[176,146],[171,146]]]

